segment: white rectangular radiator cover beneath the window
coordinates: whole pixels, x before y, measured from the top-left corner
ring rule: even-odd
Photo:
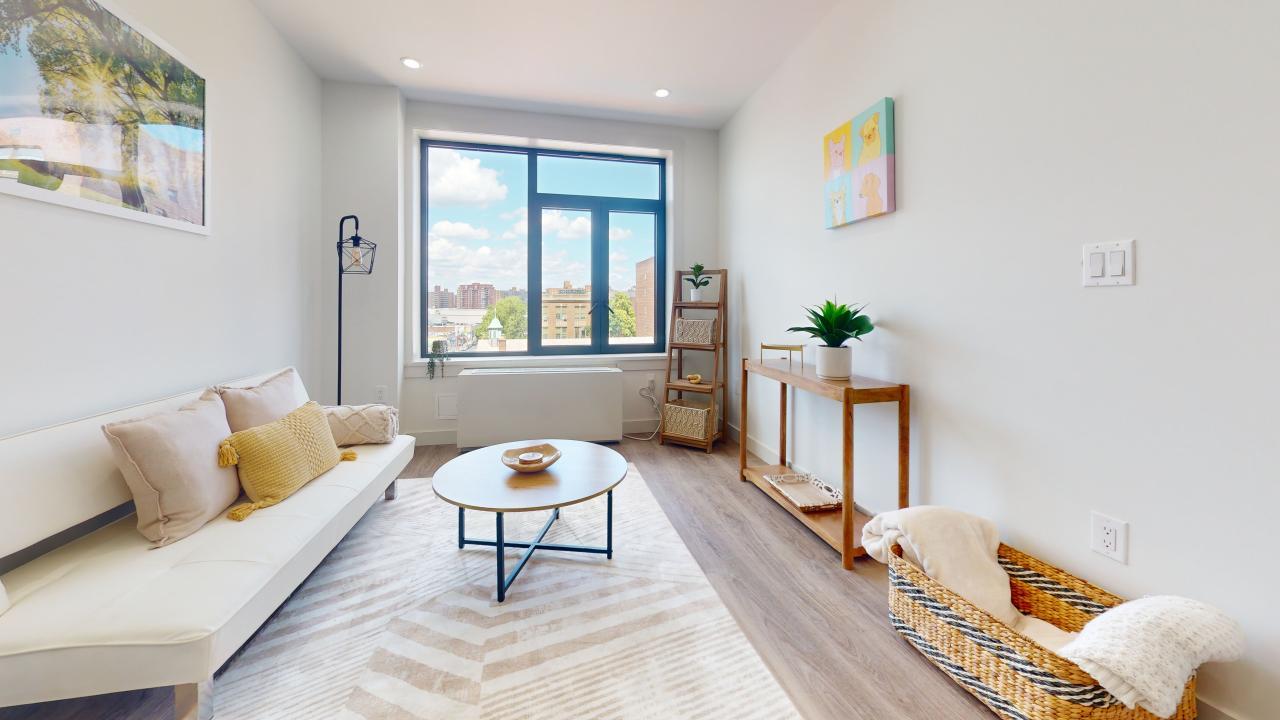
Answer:
[[[618,368],[484,368],[458,378],[458,447],[622,439]]]

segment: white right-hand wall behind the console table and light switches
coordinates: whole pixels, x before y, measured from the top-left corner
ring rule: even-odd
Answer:
[[[803,304],[869,301],[854,363],[911,383],[913,501],[1121,594],[1224,607],[1251,647],[1202,696],[1256,720],[1280,707],[1277,26],[1263,3],[842,3],[722,129],[719,170],[732,356]],[[882,96],[900,209],[822,229],[820,138]],[[1125,237],[1138,284],[1080,287],[1082,243]],[[771,391],[750,420],[776,447]],[[872,509],[892,418],[858,410]],[[838,428],[799,398],[796,462],[838,477]],[[1129,520],[1128,565],[1089,552],[1091,509]]]

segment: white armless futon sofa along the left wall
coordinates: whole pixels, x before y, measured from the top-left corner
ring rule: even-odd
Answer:
[[[0,557],[129,502],[101,425],[198,393],[0,439]],[[296,393],[307,400],[301,383]],[[379,496],[394,497],[413,438],[355,450],[356,461],[242,523],[219,518],[154,548],[129,514],[0,575],[12,603],[0,614],[0,707],[174,685],[177,717],[212,717],[214,673]]]

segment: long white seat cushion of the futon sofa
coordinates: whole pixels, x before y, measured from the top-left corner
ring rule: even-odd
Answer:
[[[152,547],[129,519],[3,577],[0,706],[207,679],[306,579],[413,452],[343,462],[251,523]]]

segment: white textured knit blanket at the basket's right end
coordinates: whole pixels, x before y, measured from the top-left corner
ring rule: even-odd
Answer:
[[[1142,706],[1160,717],[1178,710],[1187,680],[1202,664],[1235,660],[1243,652],[1244,633],[1234,620],[1203,602],[1172,596],[1117,605],[1057,651],[1125,707]]]

